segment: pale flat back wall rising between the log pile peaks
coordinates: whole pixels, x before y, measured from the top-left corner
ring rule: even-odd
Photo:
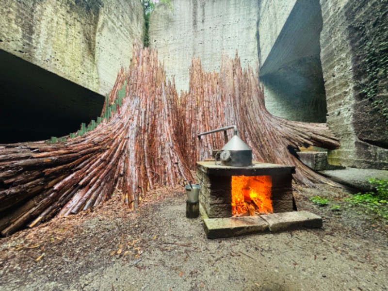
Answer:
[[[162,5],[150,19],[150,46],[158,49],[167,76],[175,76],[178,92],[188,90],[192,57],[204,69],[219,70],[222,53],[238,50],[243,67],[258,63],[258,1],[174,0],[174,12]]]

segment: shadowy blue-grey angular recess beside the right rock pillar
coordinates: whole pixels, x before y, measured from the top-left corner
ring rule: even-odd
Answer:
[[[326,122],[326,94],[320,59],[319,0],[297,0],[260,68],[265,106],[280,117]]]

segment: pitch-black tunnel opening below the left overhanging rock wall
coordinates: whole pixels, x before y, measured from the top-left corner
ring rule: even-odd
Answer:
[[[105,98],[0,50],[0,144],[75,132],[101,114]]]

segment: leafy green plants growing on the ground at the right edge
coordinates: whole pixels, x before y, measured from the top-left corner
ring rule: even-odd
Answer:
[[[369,182],[375,186],[375,192],[357,193],[345,201],[388,220],[388,180],[372,178]]]

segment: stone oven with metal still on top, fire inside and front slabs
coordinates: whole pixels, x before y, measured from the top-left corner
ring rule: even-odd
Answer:
[[[252,150],[240,139],[236,126],[198,137],[222,130],[226,136],[226,129],[234,129],[234,136],[217,151],[215,159],[196,163],[208,238],[321,227],[321,217],[295,211],[291,184],[294,166],[252,162]]]

